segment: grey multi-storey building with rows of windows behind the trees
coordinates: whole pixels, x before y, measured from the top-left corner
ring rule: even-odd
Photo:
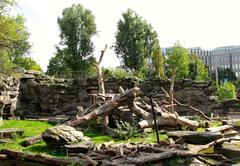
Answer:
[[[200,47],[189,48],[190,54],[195,54],[208,66],[209,71],[216,68],[230,69],[240,77],[240,45],[217,47],[213,50],[203,50]]]

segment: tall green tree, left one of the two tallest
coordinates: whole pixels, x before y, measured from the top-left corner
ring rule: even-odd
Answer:
[[[92,37],[97,34],[95,17],[82,5],[65,8],[58,18],[60,45],[64,47],[64,61],[72,71],[86,73],[90,65],[86,62],[94,50]]]

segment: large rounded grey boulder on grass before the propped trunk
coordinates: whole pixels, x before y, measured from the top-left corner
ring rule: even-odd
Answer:
[[[81,131],[67,125],[48,128],[42,133],[43,140],[50,148],[63,148],[64,145],[84,142],[86,138]]]

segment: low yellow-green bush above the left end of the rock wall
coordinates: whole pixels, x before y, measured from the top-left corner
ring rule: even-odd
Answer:
[[[41,66],[30,57],[18,57],[15,59],[15,64],[18,67],[23,67],[26,70],[38,70],[42,71]]]

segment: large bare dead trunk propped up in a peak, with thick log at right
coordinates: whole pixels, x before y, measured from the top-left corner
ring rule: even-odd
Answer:
[[[113,100],[108,101],[107,103],[99,106],[92,112],[79,117],[78,119],[68,121],[66,125],[77,126],[81,123],[87,122],[92,119],[96,119],[98,116],[106,116],[112,110],[119,106],[128,105],[133,113],[143,119],[143,121],[139,122],[141,128],[145,127],[153,127],[153,115],[144,109],[140,108],[136,102],[135,98],[141,94],[139,88],[135,87],[130,90],[123,92],[122,94],[113,98]],[[179,125],[184,125],[189,127],[190,129],[196,129],[198,127],[198,123],[196,121],[191,121],[183,117],[178,117],[177,114],[172,114],[167,111],[163,111],[160,108],[154,108],[158,114],[157,116],[157,124],[161,126],[171,126],[176,127]]]

